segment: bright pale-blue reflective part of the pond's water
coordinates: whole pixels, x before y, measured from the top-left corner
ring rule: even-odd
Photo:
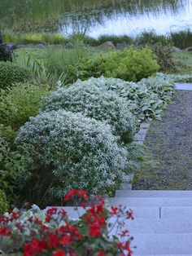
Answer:
[[[159,5],[148,5],[149,1],[148,4],[142,1],[139,5],[138,2],[116,9],[105,8],[91,14],[70,13],[61,30],[68,34],[85,29],[89,36],[98,38],[103,34],[136,36],[143,30],[165,34],[192,28],[192,0],[177,1],[176,5],[170,2],[166,5],[165,1]]]

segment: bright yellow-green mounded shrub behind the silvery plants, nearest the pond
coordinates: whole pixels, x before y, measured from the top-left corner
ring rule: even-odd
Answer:
[[[126,81],[139,81],[156,73],[159,65],[148,48],[110,51],[83,62],[79,77],[116,77]]]

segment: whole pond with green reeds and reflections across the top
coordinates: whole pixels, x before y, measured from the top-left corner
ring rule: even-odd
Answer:
[[[0,0],[0,29],[132,35],[192,29],[192,0]]]

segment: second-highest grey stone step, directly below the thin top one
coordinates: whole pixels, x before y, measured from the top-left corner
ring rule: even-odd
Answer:
[[[113,197],[107,198],[110,206],[137,207],[192,206],[192,197]]]

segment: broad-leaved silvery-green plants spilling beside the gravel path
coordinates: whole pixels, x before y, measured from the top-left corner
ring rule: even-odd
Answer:
[[[137,83],[117,78],[91,77],[85,84],[114,90],[127,101],[133,116],[141,121],[159,119],[162,110],[171,102],[174,88],[174,83],[162,73],[158,73],[156,77],[143,78]]]

